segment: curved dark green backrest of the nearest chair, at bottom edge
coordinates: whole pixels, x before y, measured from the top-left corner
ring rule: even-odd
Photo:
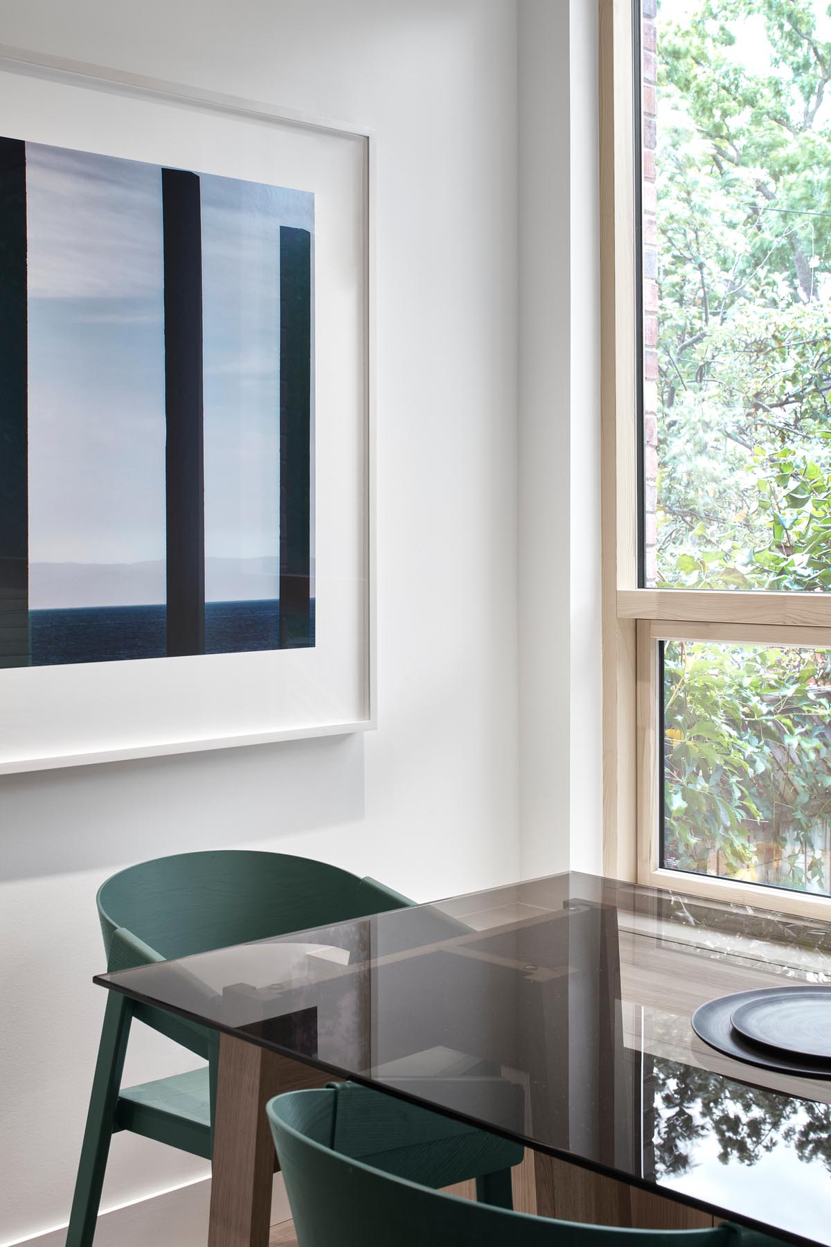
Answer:
[[[614,1230],[549,1221],[419,1186],[361,1157],[395,1155],[386,1096],[346,1084],[268,1105],[299,1247],[726,1247],[735,1226]],[[411,1125],[411,1117],[409,1124]]]

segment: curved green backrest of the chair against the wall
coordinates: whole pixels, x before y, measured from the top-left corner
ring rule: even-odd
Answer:
[[[97,904],[110,963],[118,928],[168,959],[364,918],[410,902],[325,862],[221,849],[128,867],[102,884]]]

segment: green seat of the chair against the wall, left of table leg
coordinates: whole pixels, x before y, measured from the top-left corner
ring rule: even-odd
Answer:
[[[122,1087],[116,1109],[116,1130],[132,1130],[209,1160],[208,1066]]]

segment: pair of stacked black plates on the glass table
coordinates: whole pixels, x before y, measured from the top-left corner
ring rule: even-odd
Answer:
[[[699,1039],[728,1056],[831,1079],[831,984],[738,991],[701,1005],[691,1020]]]

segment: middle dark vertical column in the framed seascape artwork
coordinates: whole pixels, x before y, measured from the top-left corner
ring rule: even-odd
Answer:
[[[204,653],[199,178],[162,170],[167,418],[167,653]]]

